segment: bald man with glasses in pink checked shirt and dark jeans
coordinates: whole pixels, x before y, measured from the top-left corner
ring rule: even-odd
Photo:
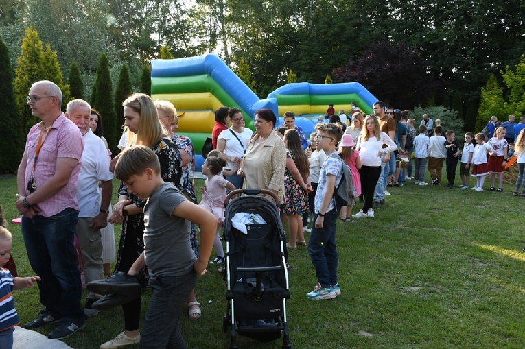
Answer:
[[[34,83],[27,104],[42,121],[27,134],[15,205],[23,215],[22,234],[30,265],[42,278],[38,289],[45,309],[25,328],[60,322],[47,337],[62,339],[85,326],[73,245],[84,141],[78,127],[60,111],[62,92],[53,82]]]

